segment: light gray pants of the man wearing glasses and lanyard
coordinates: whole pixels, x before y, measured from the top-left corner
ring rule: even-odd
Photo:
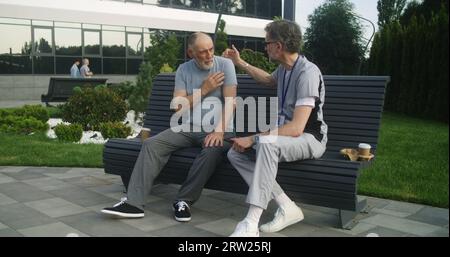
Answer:
[[[266,209],[270,200],[284,193],[276,182],[279,162],[316,159],[324,152],[325,144],[308,133],[300,137],[262,136],[256,152],[230,149],[228,159],[249,185],[246,202]]]

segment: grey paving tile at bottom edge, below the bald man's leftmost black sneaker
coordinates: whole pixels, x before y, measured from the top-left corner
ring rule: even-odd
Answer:
[[[119,219],[113,219],[95,212],[66,216],[59,220],[89,236],[145,236],[146,233]]]

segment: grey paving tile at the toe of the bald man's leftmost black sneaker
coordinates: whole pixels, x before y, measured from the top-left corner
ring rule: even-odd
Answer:
[[[48,192],[54,196],[63,198],[69,202],[75,203],[82,207],[89,207],[93,205],[99,205],[102,203],[109,203],[114,200],[104,195],[79,187],[58,189]]]

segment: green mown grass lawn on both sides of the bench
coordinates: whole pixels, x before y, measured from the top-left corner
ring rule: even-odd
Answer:
[[[358,193],[448,208],[447,124],[384,113],[377,157]],[[102,167],[102,145],[0,134],[0,165]]]

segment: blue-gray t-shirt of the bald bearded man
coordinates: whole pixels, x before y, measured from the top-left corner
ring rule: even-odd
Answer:
[[[233,62],[229,59],[215,56],[214,65],[209,70],[200,69],[194,59],[181,64],[178,67],[175,75],[175,90],[185,90],[188,95],[192,95],[194,89],[201,88],[203,81],[209,76],[209,74],[213,74],[216,72],[225,73],[225,81],[223,87],[237,86],[236,70]],[[205,98],[202,98],[202,102],[197,104],[193,108],[191,117],[188,122],[196,126],[201,126],[201,120],[196,119],[195,117],[201,117],[203,119],[203,117],[206,114],[210,113],[212,110],[214,110],[212,113],[218,115],[216,117],[222,117],[221,110],[214,108],[213,105],[222,105],[224,102],[225,99],[223,97],[222,87],[220,87],[214,92],[211,92]],[[194,114],[196,115],[195,117]],[[208,117],[210,116],[208,115]],[[212,118],[210,119],[208,126],[205,126],[205,124],[203,124],[203,128],[212,131],[214,129],[214,124],[217,124],[217,122],[216,120],[214,120],[214,118]],[[232,129],[232,125],[232,123],[229,123],[227,129]]]

